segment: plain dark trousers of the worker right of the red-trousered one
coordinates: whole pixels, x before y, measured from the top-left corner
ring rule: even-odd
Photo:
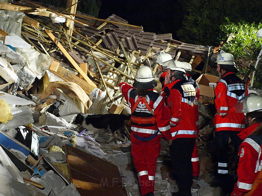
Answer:
[[[174,139],[170,149],[170,157],[177,176],[180,190],[190,190],[193,184],[193,167],[191,156],[194,150],[195,138]]]

